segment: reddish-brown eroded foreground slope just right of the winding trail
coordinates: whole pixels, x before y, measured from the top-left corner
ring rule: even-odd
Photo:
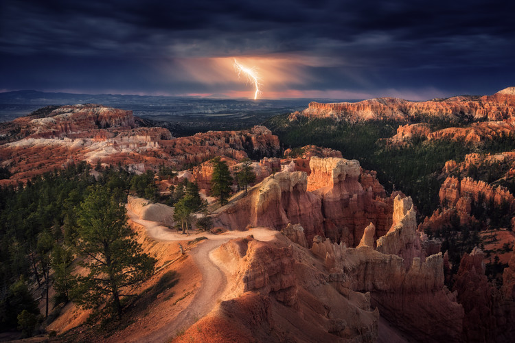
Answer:
[[[259,314],[255,305],[237,311],[229,327],[248,325],[254,337],[266,342],[377,340],[379,314],[371,309],[369,294],[340,287],[306,248],[292,245],[286,237],[276,235],[269,242],[233,239],[214,255],[229,267],[234,281],[229,293],[237,295],[221,305],[241,306],[256,296],[266,304]]]

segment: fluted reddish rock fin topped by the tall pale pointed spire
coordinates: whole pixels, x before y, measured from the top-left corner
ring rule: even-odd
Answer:
[[[395,230],[392,232],[404,233],[405,237],[415,240],[416,223],[411,222],[410,204],[411,200],[396,198]],[[367,231],[362,239],[364,242],[369,241],[370,232]],[[388,246],[404,246],[402,235],[387,236],[391,240]],[[420,247],[413,241],[411,244]],[[379,240],[377,245],[384,246]],[[344,244],[325,240],[314,242],[311,250],[323,259],[332,278],[339,280],[343,287],[370,292],[371,303],[378,306],[380,315],[409,332],[416,342],[461,340],[464,309],[456,303],[455,294],[444,286],[442,253],[427,258],[412,257],[407,267],[404,258],[374,250],[370,243],[347,248]],[[410,252],[413,250],[415,248],[409,249]],[[399,253],[402,255],[405,250],[400,249]],[[422,248],[411,255],[422,256]]]

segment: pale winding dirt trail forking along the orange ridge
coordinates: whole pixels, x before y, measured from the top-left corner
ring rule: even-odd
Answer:
[[[221,235],[194,233],[190,236],[186,236],[162,226],[157,222],[140,220],[130,209],[127,209],[127,215],[133,222],[144,226],[147,230],[147,234],[157,240],[185,241],[202,236],[207,238],[187,252],[191,255],[198,270],[200,270],[202,274],[201,287],[196,291],[192,303],[190,303],[190,306],[183,309],[175,320],[165,325],[165,329],[151,331],[146,337],[138,339],[138,341],[143,340],[144,342],[167,342],[170,338],[173,338],[178,331],[187,329],[194,324],[196,320],[203,318],[214,308],[216,302],[221,298],[227,287],[227,276],[222,271],[225,270],[225,268],[220,268],[216,260],[211,258],[211,251],[230,239],[253,235],[255,239],[260,241],[270,241],[277,234],[277,231],[268,228],[253,228],[248,231],[228,231]]]

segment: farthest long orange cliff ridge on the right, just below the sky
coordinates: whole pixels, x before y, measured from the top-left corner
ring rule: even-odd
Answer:
[[[293,113],[290,115],[290,119],[304,116],[355,122],[376,119],[407,120],[410,117],[426,115],[454,118],[464,114],[475,119],[502,120],[515,114],[515,96],[510,92],[501,92],[483,97],[459,96],[426,102],[410,102],[391,97],[354,103],[320,104],[310,102],[306,110],[301,113]]]

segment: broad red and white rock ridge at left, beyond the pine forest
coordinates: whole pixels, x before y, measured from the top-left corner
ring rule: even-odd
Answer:
[[[121,163],[144,171],[160,165],[181,169],[215,156],[237,161],[274,156],[281,150],[277,137],[263,126],[173,139],[165,128],[135,128],[130,111],[80,105],[40,112],[0,124],[0,139],[12,141],[0,145],[1,166],[14,174],[10,180],[1,180],[3,184],[61,168],[69,161]]]

